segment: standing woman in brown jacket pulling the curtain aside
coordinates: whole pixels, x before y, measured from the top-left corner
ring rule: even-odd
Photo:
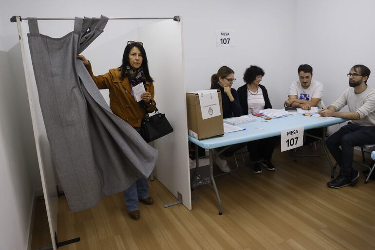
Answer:
[[[145,109],[149,113],[155,109],[153,80],[150,76],[143,43],[128,41],[124,50],[122,65],[103,75],[95,76],[90,61],[83,55],[77,55],[77,58],[82,60],[98,89],[109,89],[112,112],[140,132]],[[144,85],[146,92],[142,93],[142,100],[137,102],[132,88],[141,83]],[[138,200],[147,205],[153,204],[149,195],[149,184],[145,178],[138,179],[123,193],[128,214],[133,219],[139,219],[140,216]]]

